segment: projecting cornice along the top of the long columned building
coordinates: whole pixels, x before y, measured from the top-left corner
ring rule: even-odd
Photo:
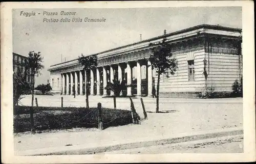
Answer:
[[[214,31],[212,31],[214,30]],[[225,32],[225,35],[222,35],[223,32]],[[232,33],[230,33],[232,32]],[[161,35],[158,37],[142,40],[140,42],[127,44],[124,46],[119,46],[113,49],[105,50],[99,53],[95,53],[98,56],[98,61],[101,63],[101,61],[113,57],[119,57],[119,56],[125,56],[126,54],[131,54],[134,52],[139,51],[145,51],[150,50],[153,47],[156,47],[160,41],[162,41],[163,38],[166,38],[167,42],[174,44],[178,42],[187,41],[189,39],[196,39],[198,37],[204,37],[204,34],[208,34],[209,36],[221,36],[223,39],[230,38],[230,39],[241,39],[239,38],[239,34],[242,33],[242,29],[236,29],[236,28],[227,28],[224,26],[219,25],[208,25],[208,24],[201,24],[197,25],[188,29],[176,31],[173,33],[168,33],[166,35]],[[91,55],[95,55],[91,54]],[[145,58],[145,57],[144,57]],[[114,62],[115,63],[115,62]],[[114,64],[113,63],[113,64]],[[48,71],[54,70],[56,68],[65,68],[69,66],[77,65],[78,59],[74,59],[71,61],[59,63],[50,66]],[[102,64],[99,64],[101,66]]]

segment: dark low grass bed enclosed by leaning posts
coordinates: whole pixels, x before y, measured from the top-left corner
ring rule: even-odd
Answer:
[[[29,107],[14,109],[14,132],[30,131]],[[23,115],[21,115],[23,114]],[[138,114],[134,114],[139,118]],[[133,123],[131,111],[102,108],[103,128]],[[35,130],[98,127],[98,109],[84,107],[34,107]]]

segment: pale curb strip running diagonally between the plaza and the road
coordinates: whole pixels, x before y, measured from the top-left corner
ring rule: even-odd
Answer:
[[[125,140],[122,142],[115,143],[103,142],[95,144],[81,144],[74,146],[55,147],[55,148],[44,148],[35,150],[26,150],[15,153],[15,155],[35,156],[35,155],[81,155],[81,154],[96,154],[107,151],[116,151],[123,149],[135,149],[140,147],[157,146],[164,144],[183,143],[188,141],[204,140],[217,138],[228,135],[243,134],[243,127],[218,129],[210,131],[201,131],[194,134],[182,133],[168,136],[159,136],[159,140],[152,140],[151,138],[137,138],[132,140]]]

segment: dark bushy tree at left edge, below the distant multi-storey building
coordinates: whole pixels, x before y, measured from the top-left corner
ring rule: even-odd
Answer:
[[[22,99],[22,96],[28,94],[31,89],[26,78],[26,68],[24,73],[19,69],[13,73],[13,105],[18,105],[18,101]]]

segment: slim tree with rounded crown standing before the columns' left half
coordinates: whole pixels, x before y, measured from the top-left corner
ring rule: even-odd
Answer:
[[[98,66],[98,58],[96,54],[92,56],[83,56],[78,57],[78,62],[83,66],[83,70],[86,72],[86,79],[91,78],[89,77],[89,70],[95,69]],[[86,81],[85,81],[86,83]],[[89,84],[86,83],[86,107],[89,108]]]

